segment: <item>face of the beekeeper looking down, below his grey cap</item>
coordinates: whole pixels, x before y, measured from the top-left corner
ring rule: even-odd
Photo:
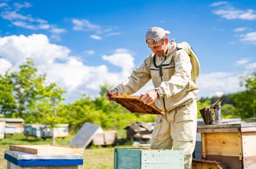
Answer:
[[[153,39],[148,39],[147,42],[153,42]],[[162,40],[159,40],[155,44],[148,44],[148,47],[156,54],[157,57],[162,57],[167,50],[167,45]]]

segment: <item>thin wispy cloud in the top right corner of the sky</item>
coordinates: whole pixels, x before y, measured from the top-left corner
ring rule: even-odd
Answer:
[[[222,3],[223,5],[224,3]],[[220,15],[222,18],[226,18],[227,20],[256,20],[256,12],[253,9],[236,9],[232,7],[229,3],[225,3],[226,5],[220,7],[220,9],[216,9],[212,11],[216,15]],[[212,5],[214,6],[214,5]],[[218,5],[215,5],[218,6]]]

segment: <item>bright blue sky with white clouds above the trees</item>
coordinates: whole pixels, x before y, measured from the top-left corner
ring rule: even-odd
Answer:
[[[199,98],[245,90],[240,77],[256,71],[256,1],[0,0],[0,73],[30,57],[67,90],[65,102],[94,98],[152,53],[145,34],[154,26],[195,50]]]

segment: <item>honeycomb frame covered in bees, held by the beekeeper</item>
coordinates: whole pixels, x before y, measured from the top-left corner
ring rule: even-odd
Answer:
[[[118,104],[121,104],[130,112],[136,112],[141,114],[160,114],[164,115],[165,112],[157,108],[154,104],[150,106],[141,102],[141,96],[129,96],[129,95],[113,95],[113,100]]]

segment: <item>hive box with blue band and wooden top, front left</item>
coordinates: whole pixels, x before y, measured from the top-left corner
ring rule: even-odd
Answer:
[[[83,149],[59,145],[10,145],[7,169],[70,168],[83,164]]]

